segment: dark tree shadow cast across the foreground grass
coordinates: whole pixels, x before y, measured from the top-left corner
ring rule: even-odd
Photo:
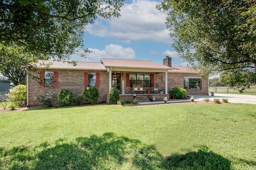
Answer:
[[[51,147],[5,150],[0,148],[0,169],[225,169],[230,160],[207,147],[197,152],[163,157],[154,146],[114,133],[79,137],[74,143],[62,139]]]

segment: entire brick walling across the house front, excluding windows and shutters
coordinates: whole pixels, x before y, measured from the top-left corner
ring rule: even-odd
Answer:
[[[98,70],[38,70],[39,71],[57,71],[58,72],[58,87],[39,87],[39,83],[36,80],[33,80],[29,76],[28,83],[28,100],[29,106],[38,106],[42,105],[36,98],[40,94],[46,94],[49,92],[54,93],[55,104],[58,104],[58,100],[56,98],[58,91],[62,89],[70,90],[73,94],[82,94],[82,90],[84,90],[84,72],[100,72],[100,87],[99,90],[99,98],[97,102],[106,102],[108,103],[108,93],[109,93],[109,73],[106,71],[98,71]],[[130,72],[130,73],[139,73],[139,72]],[[35,72],[30,72],[33,76],[39,76]],[[147,73],[154,74],[154,82],[159,84],[160,90],[165,90],[165,74],[156,74],[154,72]],[[132,87],[126,87],[126,77],[122,76],[123,72],[121,72],[121,82],[124,80],[124,88],[125,94],[132,94]],[[170,89],[178,86],[184,87],[183,78],[185,76],[198,76],[198,74],[192,73],[168,73],[168,93]],[[122,93],[122,86],[121,86]],[[145,87],[144,90],[148,89]],[[187,90],[188,94],[206,94],[208,95],[208,80],[202,80],[202,90]],[[164,91],[165,94],[165,91]],[[122,98],[122,100],[131,100],[132,96],[127,96],[126,98]],[[159,96],[159,99],[162,100],[162,96]]]

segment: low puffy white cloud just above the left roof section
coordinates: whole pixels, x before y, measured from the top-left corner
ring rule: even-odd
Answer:
[[[106,45],[104,50],[88,48],[91,53],[88,58],[72,55],[72,60],[82,62],[100,62],[100,59],[134,59],[135,52],[132,48],[124,48],[121,45]]]

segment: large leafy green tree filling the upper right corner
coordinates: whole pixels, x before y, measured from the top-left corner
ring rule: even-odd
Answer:
[[[174,38],[174,49],[200,69],[202,75],[241,69],[253,75],[256,73],[255,3],[255,0],[164,0],[157,8],[168,14],[166,25]],[[255,77],[250,81],[256,82]]]

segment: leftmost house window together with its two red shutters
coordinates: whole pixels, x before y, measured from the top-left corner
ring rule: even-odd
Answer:
[[[58,87],[58,72],[40,71],[40,87]]]

